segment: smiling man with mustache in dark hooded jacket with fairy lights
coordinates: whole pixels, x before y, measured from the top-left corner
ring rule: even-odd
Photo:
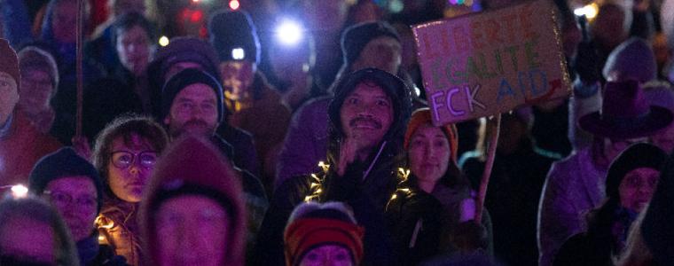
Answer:
[[[345,75],[334,93],[328,106],[329,166],[324,173],[291,177],[274,192],[256,246],[268,255],[258,264],[283,262],[283,224],[303,200],[348,203],[365,227],[364,263],[394,262],[381,224],[396,190],[396,158],[411,113],[410,92],[395,75],[365,68]]]

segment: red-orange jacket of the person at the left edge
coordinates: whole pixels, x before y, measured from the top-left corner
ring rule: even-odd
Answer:
[[[0,136],[0,186],[27,184],[35,162],[61,145],[55,138],[35,129],[18,109],[7,121],[11,123],[9,131],[6,136]]]

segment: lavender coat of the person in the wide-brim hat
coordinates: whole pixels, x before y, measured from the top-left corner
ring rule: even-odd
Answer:
[[[541,266],[552,265],[564,241],[584,231],[584,215],[604,199],[606,175],[592,163],[590,147],[553,163],[538,208]]]

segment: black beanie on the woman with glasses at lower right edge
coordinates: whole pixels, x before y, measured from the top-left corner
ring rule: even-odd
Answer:
[[[620,199],[618,187],[627,173],[636,168],[662,169],[667,154],[660,148],[647,143],[638,143],[629,146],[620,153],[608,167],[606,177],[607,198]]]

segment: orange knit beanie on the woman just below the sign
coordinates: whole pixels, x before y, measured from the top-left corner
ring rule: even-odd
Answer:
[[[407,130],[405,130],[403,145],[405,151],[410,148],[411,136],[424,124],[433,125],[433,118],[431,118],[431,111],[428,107],[419,108],[417,111],[414,111],[414,113],[411,113],[410,122],[407,123]],[[440,127],[440,129],[443,130],[444,135],[447,136],[447,140],[450,142],[451,160],[456,163],[458,153],[457,127],[454,124],[446,124]]]

